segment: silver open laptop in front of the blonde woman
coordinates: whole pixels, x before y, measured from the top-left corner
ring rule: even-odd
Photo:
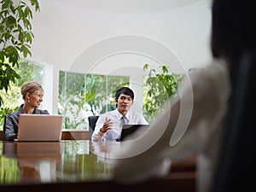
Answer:
[[[62,119],[62,115],[21,113],[15,141],[58,142],[61,140]]]

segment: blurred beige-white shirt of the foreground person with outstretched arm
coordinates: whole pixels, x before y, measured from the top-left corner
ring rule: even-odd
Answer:
[[[114,154],[113,180],[138,183],[164,176],[172,160],[197,154],[196,191],[210,191],[229,98],[230,74],[224,63],[213,61],[189,73],[148,131],[122,143]]]

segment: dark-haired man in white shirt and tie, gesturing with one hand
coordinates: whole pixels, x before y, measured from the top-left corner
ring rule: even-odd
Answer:
[[[148,125],[148,121],[141,113],[129,110],[134,100],[134,92],[128,87],[122,87],[116,91],[116,109],[103,113],[96,122],[92,140],[119,141],[122,126],[129,125]]]

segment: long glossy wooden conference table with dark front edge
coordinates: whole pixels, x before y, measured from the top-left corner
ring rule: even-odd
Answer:
[[[54,143],[0,142],[0,191],[94,189],[195,191],[195,166],[176,165],[169,175],[136,185],[115,183],[113,151],[119,142],[68,140]]]

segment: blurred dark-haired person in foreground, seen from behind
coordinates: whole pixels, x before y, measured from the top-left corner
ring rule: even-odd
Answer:
[[[254,8],[249,0],[212,1],[212,63],[188,74],[142,137],[122,143],[113,180],[139,183],[164,176],[172,169],[170,159],[196,154],[196,190],[211,191],[236,74],[244,55],[256,49]]]

